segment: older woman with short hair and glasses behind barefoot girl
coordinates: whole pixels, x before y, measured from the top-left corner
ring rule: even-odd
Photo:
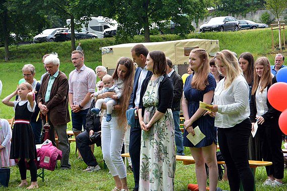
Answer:
[[[41,84],[34,78],[35,73],[36,73],[35,67],[32,64],[26,64],[22,68],[22,73],[23,73],[23,76],[26,82],[30,83],[32,85],[32,88],[37,91],[37,93],[35,94],[35,98],[37,98]],[[32,130],[35,136],[36,144],[41,143],[40,137],[41,137],[41,129],[42,129],[42,120],[41,118],[39,118],[37,121],[39,112],[40,112],[40,109],[38,107],[38,104],[36,104],[35,111],[31,118],[31,126],[32,126]]]

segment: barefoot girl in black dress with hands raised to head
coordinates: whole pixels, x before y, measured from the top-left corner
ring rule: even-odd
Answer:
[[[22,101],[10,100],[16,96]],[[14,107],[15,124],[12,131],[10,158],[18,160],[19,171],[21,175],[21,184],[18,187],[28,185],[26,178],[26,164],[28,162],[31,174],[31,185],[27,189],[38,188],[37,183],[37,167],[34,159],[37,158],[35,138],[30,125],[32,114],[35,110],[35,94],[30,83],[21,83],[18,88],[3,99],[3,104]]]

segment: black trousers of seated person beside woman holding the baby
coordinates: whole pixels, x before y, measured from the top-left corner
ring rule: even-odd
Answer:
[[[88,131],[80,133],[76,137],[76,143],[84,162],[88,166],[97,166],[98,165],[97,159],[95,158],[93,152],[91,151],[90,145],[92,145],[93,143],[90,140],[90,135]]]

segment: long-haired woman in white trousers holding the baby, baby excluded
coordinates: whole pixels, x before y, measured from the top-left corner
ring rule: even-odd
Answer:
[[[133,85],[134,65],[132,60],[126,57],[120,58],[112,77],[114,84],[121,90],[122,96],[119,100],[119,106],[114,106],[111,121],[106,121],[106,110],[104,111],[101,125],[102,152],[103,158],[116,184],[112,190],[127,191],[126,168],[120,154],[126,132],[125,111],[128,107]],[[107,91],[100,94],[97,98],[111,98],[113,94],[115,92]]]

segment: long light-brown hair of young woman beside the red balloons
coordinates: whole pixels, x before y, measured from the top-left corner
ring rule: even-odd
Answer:
[[[272,74],[270,72],[270,62],[268,58],[266,57],[260,57],[255,61],[255,67],[256,65],[263,66],[263,73],[262,77],[259,77],[256,73],[256,69],[254,70],[254,83],[252,87],[251,94],[254,95],[256,93],[256,90],[259,86],[259,83],[261,85],[260,92],[267,87],[267,85],[272,84]]]

